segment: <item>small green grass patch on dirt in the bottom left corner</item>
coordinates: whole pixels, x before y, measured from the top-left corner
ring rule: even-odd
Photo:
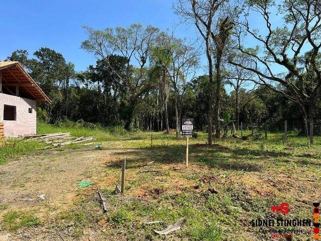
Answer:
[[[9,211],[4,214],[4,227],[8,230],[15,231],[22,227],[34,226],[41,224],[39,217],[32,213],[23,211]]]

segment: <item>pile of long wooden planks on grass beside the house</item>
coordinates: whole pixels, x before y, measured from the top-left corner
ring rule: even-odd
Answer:
[[[47,144],[53,144],[53,147],[60,147],[60,146],[94,140],[93,137],[74,138],[70,135],[70,133],[25,135],[25,136],[22,136],[22,138],[26,139],[26,141],[34,141],[34,140],[44,141]]]

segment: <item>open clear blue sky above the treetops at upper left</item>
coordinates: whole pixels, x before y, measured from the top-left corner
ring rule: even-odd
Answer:
[[[172,0],[5,1],[1,4],[0,60],[16,49],[26,49],[32,55],[41,47],[49,47],[73,62],[76,70],[85,70],[95,63],[95,57],[80,49],[86,39],[83,25],[103,29],[141,23],[171,29],[180,23],[172,5]],[[193,38],[196,30],[181,25],[177,36]]]

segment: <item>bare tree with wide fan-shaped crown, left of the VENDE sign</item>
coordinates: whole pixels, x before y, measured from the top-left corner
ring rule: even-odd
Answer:
[[[94,30],[88,26],[84,28],[88,39],[82,42],[82,48],[104,60],[111,71],[128,86],[125,123],[125,128],[128,130],[138,102],[154,84],[146,75],[146,64],[159,30],[152,26],[143,28],[140,24],[105,30]],[[114,54],[127,59],[125,78],[111,64],[110,56]],[[134,68],[133,64],[136,64],[137,68]]]

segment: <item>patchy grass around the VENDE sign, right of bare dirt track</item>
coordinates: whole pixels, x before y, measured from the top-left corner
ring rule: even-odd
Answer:
[[[41,125],[62,132],[61,127]],[[80,136],[86,130],[71,129]],[[100,133],[101,140],[113,139],[101,143],[105,149],[102,154],[106,152],[111,160],[107,166],[82,172],[86,178],[95,176],[96,171],[103,174],[95,184],[101,186],[109,210],[102,212],[95,191],[78,191],[72,206],[54,222],[49,221],[53,230],[58,227],[70,236],[79,237],[88,226],[98,225],[96,230],[104,230],[102,239],[108,240],[115,235],[119,240],[268,240],[268,234],[249,226],[251,219],[275,217],[270,207],[282,202],[290,204],[289,218],[310,218],[310,202],[318,198],[320,137],[315,137],[310,149],[305,147],[304,137],[295,133],[290,133],[287,143],[283,143],[281,133],[269,133],[267,140],[228,138],[209,147],[204,145],[207,134],[199,133],[197,139],[190,139],[190,167],[185,168],[186,139],[177,139],[175,134],[153,133],[150,147],[148,132],[117,137],[105,130],[90,131]],[[87,155],[72,153],[75,158]],[[125,158],[126,195],[114,195],[114,182],[105,180],[120,180],[120,167],[112,163]],[[154,163],[142,168],[151,161]],[[184,216],[186,221],[177,232],[167,237],[153,232]],[[163,222],[144,224],[154,220]],[[308,228],[303,228],[300,240],[310,237]]]

